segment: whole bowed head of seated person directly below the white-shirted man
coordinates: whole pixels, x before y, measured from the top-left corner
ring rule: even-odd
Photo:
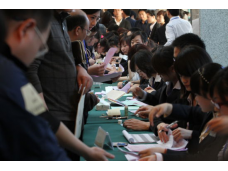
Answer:
[[[174,57],[172,46],[159,46],[154,52],[151,64],[164,82],[177,80],[174,70]]]

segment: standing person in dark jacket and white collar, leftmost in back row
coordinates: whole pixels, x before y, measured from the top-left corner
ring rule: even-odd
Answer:
[[[125,28],[129,30],[131,28],[131,24],[128,20],[125,20],[122,16],[123,10],[122,9],[114,9],[113,14],[115,18],[110,23],[115,23],[119,27]]]

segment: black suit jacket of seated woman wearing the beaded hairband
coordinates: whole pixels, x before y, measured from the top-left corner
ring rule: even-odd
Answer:
[[[182,119],[193,119],[201,122],[199,132],[201,133],[207,124],[213,118],[213,113],[204,113],[199,108],[189,106],[173,106],[173,111],[170,116],[179,115]],[[164,161],[215,161],[218,158],[218,153],[222,146],[225,144],[227,137],[216,135],[211,136],[210,134],[199,143],[199,137],[192,137],[189,143],[194,142],[194,146],[188,146],[197,149],[194,153],[178,152],[173,150],[167,150],[166,154],[163,154]],[[195,151],[195,150],[193,150]]]

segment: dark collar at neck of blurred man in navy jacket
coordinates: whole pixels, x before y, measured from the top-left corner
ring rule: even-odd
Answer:
[[[2,47],[3,47],[2,49],[4,50],[1,52],[1,54],[4,57],[11,60],[15,65],[17,65],[24,72],[28,70],[28,67],[23,62],[21,62],[17,57],[13,56],[13,54],[11,53],[10,47],[6,43],[4,43]]]

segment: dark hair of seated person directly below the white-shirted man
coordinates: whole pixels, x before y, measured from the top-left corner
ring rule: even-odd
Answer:
[[[159,46],[154,52],[152,66],[159,74],[167,74],[169,68],[174,64],[173,47],[172,46]]]

